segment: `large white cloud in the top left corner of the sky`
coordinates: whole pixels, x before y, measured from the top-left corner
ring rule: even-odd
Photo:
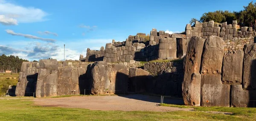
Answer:
[[[7,0],[0,0],[0,14],[17,20],[19,23],[44,21],[47,20],[44,17],[48,15],[41,9],[16,5]]]

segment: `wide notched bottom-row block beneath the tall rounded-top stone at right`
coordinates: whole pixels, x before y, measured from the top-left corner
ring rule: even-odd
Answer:
[[[201,106],[229,107],[230,85],[221,83],[221,75],[206,74],[201,77]]]

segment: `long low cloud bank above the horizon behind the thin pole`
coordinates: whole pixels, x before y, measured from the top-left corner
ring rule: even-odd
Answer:
[[[64,40],[57,41],[56,43],[16,40],[5,43],[8,46],[1,46],[0,43],[0,55],[15,55],[29,61],[47,58],[64,60],[64,44],[66,44],[65,60],[79,60],[80,54],[83,54],[84,57],[86,56],[87,48],[99,50],[101,46],[105,48],[105,44],[111,42],[112,39],[69,40],[67,43]]]

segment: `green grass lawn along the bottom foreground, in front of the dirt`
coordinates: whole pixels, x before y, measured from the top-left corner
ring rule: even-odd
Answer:
[[[169,106],[169,105],[165,105]],[[171,105],[177,106],[177,105]],[[196,108],[196,107],[195,107]],[[35,106],[31,99],[0,99],[0,120],[26,121],[170,121],[170,120],[256,120],[254,108],[199,107],[196,111],[145,112],[145,111],[91,111],[61,107]],[[213,114],[204,111],[235,112],[233,115]]]

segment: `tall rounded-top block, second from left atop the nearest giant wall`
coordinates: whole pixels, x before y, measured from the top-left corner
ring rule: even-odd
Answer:
[[[201,73],[221,74],[224,55],[224,40],[221,37],[207,37],[202,55]]]

